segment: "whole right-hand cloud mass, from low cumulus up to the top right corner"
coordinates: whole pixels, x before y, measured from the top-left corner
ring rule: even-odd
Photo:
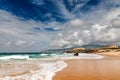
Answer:
[[[120,5],[119,2],[105,0],[92,12],[80,14],[82,16],[80,19],[72,19],[65,23],[65,31],[59,33],[55,41],[63,47],[120,43],[120,9],[116,6]],[[109,6],[110,9],[107,9],[108,5],[112,5]]]

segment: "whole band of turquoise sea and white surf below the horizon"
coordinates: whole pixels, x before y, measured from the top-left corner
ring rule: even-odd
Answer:
[[[47,60],[47,59],[97,59],[100,55],[79,53],[79,56],[73,56],[74,53],[52,52],[52,53],[0,53],[0,60]]]

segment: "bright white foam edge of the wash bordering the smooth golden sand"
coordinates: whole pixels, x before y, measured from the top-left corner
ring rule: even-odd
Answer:
[[[39,63],[40,69],[21,76],[6,76],[0,80],[52,80],[56,72],[61,71],[67,64],[64,61]]]

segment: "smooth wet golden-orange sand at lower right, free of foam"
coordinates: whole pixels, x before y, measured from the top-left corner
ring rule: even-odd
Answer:
[[[120,58],[67,60],[53,80],[120,80]]]

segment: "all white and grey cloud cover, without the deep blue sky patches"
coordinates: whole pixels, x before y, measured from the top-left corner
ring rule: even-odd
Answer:
[[[43,0],[30,1],[36,5],[45,4]],[[72,0],[69,1],[73,5]],[[78,4],[73,12],[84,6],[87,1]],[[70,21],[60,23],[54,20],[43,23],[23,20],[7,11],[0,10],[0,45],[2,45],[0,51],[40,51],[86,44],[120,43],[120,8],[115,6],[120,5],[119,0],[104,0],[92,11],[84,14],[79,10],[78,13],[73,14],[62,0],[55,2],[57,2],[55,5],[59,7],[59,13],[63,15],[60,17],[71,19]],[[107,5],[110,4],[112,6],[107,9]],[[48,13],[46,16],[51,17],[52,14]],[[37,28],[34,29],[35,27]],[[46,31],[44,28],[51,28],[58,32]]]

